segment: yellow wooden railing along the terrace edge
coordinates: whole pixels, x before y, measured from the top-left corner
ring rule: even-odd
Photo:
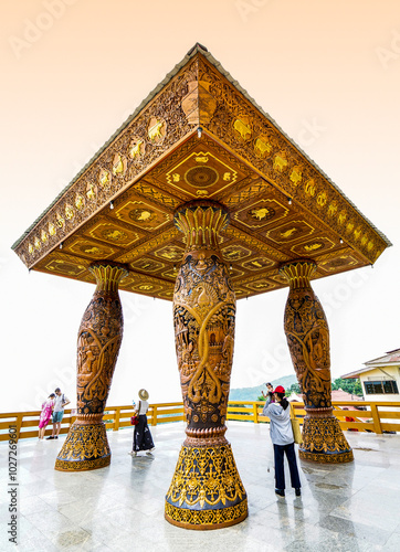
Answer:
[[[264,403],[261,401],[231,401],[228,403],[228,420],[251,422],[254,424],[267,423],[270,420],[262,415]],[[343,429],[371,432],[381,434],[383,432],[400,432],[400,402],[377,403],[371,401],[335,401],[333,403],[334,414],[339,421]],[[357,406],[361,410],[346,410],[348,406]],[[303,403],[291,403],[295,416],[299,423],[306,412]],[[103,420],[107,429],[117,432],[130,426],[130,416],[134,414],[133,406],[107,406]],[[33,412],[8,412],[0,414],[0,442],[8,440],[10,427],[14,428],[17,438],[29,438],[38,436],[40,411]],[[346,421],[346,417],[348,418]],[[65,410],[61,425],[61,434],[66,434],[76,418],[75,411]],[[185,420],[182,403],[157,403],[150,404],[147,413],[150,425],[181,422]],[[352,418],[352,421],[349,421]],[[51,435],[52,425],[49,424],[45,435]]]

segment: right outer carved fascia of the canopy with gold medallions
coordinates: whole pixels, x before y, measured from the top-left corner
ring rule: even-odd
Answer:
[[[199,60],[199,82],[208,83],[214,98],[204,128],[375,263],[388,246],[382,236],[272,121],[203,56]]]

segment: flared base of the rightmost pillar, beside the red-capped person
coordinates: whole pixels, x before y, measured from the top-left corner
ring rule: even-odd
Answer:
[[[352,450],[335,416],[305,416],[298,447],[302,460],[319,464],[344,464],[354,460]]]

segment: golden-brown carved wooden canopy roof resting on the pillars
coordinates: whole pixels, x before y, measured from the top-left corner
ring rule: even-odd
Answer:
[[[390,242],[197,44],[15,242],[28,268],[95,283],[124,263],[120,289],[172,299],[185,252],[175,211],[209,199],[230,212],[220,247],[238,298],[373,264]]]

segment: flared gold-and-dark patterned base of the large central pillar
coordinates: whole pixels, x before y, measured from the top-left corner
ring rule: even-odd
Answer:
[[[231,445],[183,445],[166,496],[165,518],[185,529],[221,529],[248,517]]]

